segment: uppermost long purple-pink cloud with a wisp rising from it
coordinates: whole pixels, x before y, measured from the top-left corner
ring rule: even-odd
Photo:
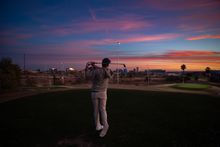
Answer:
[[[92,14],[91,20],[72,22],[65,26],[42,26],[43,34],[65,36],[71,34],[84,34],[91,32],[108,31],[134,31],[152,27],[151,22],[135,17],[116,17],[108,19],[97,19]]]

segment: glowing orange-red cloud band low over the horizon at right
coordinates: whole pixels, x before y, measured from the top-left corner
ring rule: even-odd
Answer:
[[[125,56],[119,60],[128,68],[140,67],[141,69],[166,69],[180,70],[180,65],[185,63],[188,70],[204,70],[209,66],[212,69],[220,69],[220,52],[208,50],[182,50],[169,51],[148,56]],[[111,58],[117,62],[117,58]]]

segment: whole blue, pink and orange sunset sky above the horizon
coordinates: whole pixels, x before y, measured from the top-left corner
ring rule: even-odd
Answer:
[[[129,69],[220,70],[219,0],[4,0],[0,12],[0,57],[23,67],[26,54],[28,69],[109,57]]]

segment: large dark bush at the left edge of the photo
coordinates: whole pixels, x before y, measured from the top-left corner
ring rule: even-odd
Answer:
[[[21,69],[10,58],[0,61],[0,89],[13,89],[19,86]]]

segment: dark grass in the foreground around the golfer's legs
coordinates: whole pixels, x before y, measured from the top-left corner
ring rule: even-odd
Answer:
[[[182,93],[109,90],[110,129],[94,131],[89,90],[0,104],[1,147],[219,147],[220,99]]]

